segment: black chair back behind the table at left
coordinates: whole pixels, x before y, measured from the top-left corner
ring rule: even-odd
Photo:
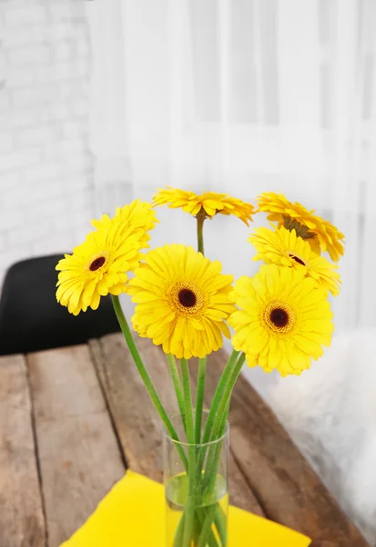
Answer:
[[[56,263],[62,255],[15,263],[0,299],[0,356],[85,344],[120,330],[109,297],[97,311],[71,315],[56,302]]]

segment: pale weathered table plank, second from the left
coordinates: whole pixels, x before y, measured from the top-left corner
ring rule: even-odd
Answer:
[[[96,509],[124,465],[87,346],[30,354],[27,362],[49,547],[57,547]]]

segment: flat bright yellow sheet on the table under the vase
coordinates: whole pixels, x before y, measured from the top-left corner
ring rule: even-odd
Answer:
[[[310,539],[237,507],[229,508],[229,547],[308,547]],[[164,488],[133,471],[61,547],[165,547]]]

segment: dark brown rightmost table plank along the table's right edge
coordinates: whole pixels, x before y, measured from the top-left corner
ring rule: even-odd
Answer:
[[[208,385],[216,384],[225,359],[221,352],[210,356]],[[229,421],[232,452],[269,519],[317,545],[367,545],[244,377],[234,389]]]

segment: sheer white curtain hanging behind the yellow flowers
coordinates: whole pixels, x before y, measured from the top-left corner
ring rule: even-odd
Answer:
[[[374,325],[375,0],[96,0],[87,15],[98,212],[167,184],[283,191],[346,234],[336,328]],[[161,210],[154,243],[194,243],[183,216]],[[251,273],[248,233],[215,218],[208,255]]]

